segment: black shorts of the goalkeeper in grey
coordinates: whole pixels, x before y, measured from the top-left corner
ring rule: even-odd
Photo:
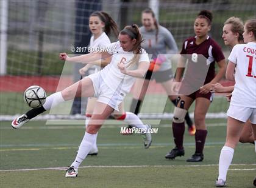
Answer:
[[[162,82],[172,79],[173,77],[174,76],[172,74],[171,69],[163,70],[163,71],[156,71],[156,72],[152,72],[152,71],[148,70],[148,72],[146,73],[145,79],[150,79],[150,80],[155,79],[156,82],[162,83]]]

